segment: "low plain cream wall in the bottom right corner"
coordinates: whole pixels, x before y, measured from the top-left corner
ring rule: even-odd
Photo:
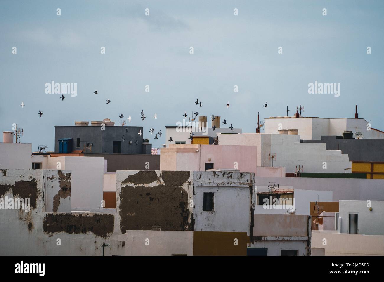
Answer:
[[[312,247],[324,248],[326,256],[384,256],[384,236],[312,231]]]

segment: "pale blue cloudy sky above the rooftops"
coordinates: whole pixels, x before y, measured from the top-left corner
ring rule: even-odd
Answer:
[[[263,120],[303,105],[303,116],[354,117],[356,104],[384,130],[383,13],[383,1],[3,0],[0,130],[18,124],[22,143],[54,150],[55,125],[119,124],[123,114],[159,147],[165,134],[154,140],[149,129],[165,133],[185,111],[220,115],[245,133],[257,112]],[[76,83],[77,95],[47,94],[51,81]],[[340,96],[309,94],[315,81],[340,83]]]

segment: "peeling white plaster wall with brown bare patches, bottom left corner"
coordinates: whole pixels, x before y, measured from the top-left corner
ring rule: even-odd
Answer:
[[[68,183],[71,171],[5,170],[0,174],[0,198],[20,196],[31,198],[31,211],[0,209],[0,255],[97,255],[100,245],[110,243],[105,255],[122,255],[122,242],[114,213],[46,213],[52,206],[52,195]],[[48,179],[48,177],[50,179]],[[53,176],[53,177],[52,177]],[[51,187],[53,186],[53,187]],[[51,193],[48,192],[51,187]],[[49,195],[49,196],[48,196]],[[57,194],[56,194],[57,195]],[[70,197],[61,198],[68,211]],[[61,245],[58,246],[60,239]]]

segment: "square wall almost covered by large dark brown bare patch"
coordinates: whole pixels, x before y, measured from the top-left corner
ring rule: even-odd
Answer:
[[[193,230],[193,173],[118,171],[116,193],[121,233],[126,230]]]

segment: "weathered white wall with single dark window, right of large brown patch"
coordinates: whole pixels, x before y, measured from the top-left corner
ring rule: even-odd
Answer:
[[[214,192],[214,211],[203,211],[203,194]],[[242,203],[242,204],[239,204]],[[194,172],[195,231],[253,231],[255,174]]]

